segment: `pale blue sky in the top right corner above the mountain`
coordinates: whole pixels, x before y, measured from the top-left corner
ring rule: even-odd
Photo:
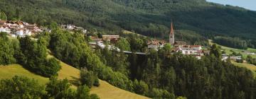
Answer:
[[[218,4],[228,4],[232,6],[240,6],[243,8],[256,11],[256,0],[206,0],[210,2],[215,2]]]

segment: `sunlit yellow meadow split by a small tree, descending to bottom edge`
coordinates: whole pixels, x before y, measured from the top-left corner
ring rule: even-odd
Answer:
[[[68,64],[65,64],[63,62],[60,62],[60,65],[62,66],[62,69],[59,71],[58,78],[68,78],[70,83],[73,84],[73,88],[75,88],[75,85],[78,84],[79,78],[80,78],[80,71],[78,69],[75,69],[73,66],[69,66]],[[135,93],[131,93],[129,91],[124,91],[120,88],[114,87],[110,85],[110,83],[107,83],[107,81],[100,80],[100,87],[93,87],[90,91],[90,93],[96,93],[100,96],[100,98],[104,99],[143,99],[146,98],[142,95],[137,95]]]

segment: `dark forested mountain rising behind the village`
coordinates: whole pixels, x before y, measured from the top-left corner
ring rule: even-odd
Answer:
[[[256,40],[255,11],[205,0],[0,0],[0,9],[9,19],[74,23],[102,33],[124,29],[166,38],[172,20],[176,30],[191,30],[204,37]]]

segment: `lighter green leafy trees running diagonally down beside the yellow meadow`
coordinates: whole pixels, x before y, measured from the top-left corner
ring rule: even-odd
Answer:
[[[97,74],[98,78],[108,81],[114,86],[126,90],[132,89],[132,86],[130,86],[132,81],[129,81],[129,78],[121,73],[122,71],[112,71],[110,67],[106,66],[100,57],[98,57],[95,52],[92,52],[92,49],[87,45],[86,41],[82,33],[69,33],[68,31],[57,29],[53,30],[50,34],[49,48],[54,56],[63,62],[92,72],[88,74],[88,76]],[[108,57],[108,59],[111,58]],[[113,66],[117,66],[116,69],[119,70],[121,69],[121,67],[118,67],[119,64],[123,63],[113,62],[111,65],[112,64],[114,64]],[[92,76],[92,78],[94,79],[95,77]],[[82,81],[82,83],[83,82],[84,81]],[[92,82],[89,82],[89,85],[91,85]],[[85,81],[85,84],[87,83],[88,82]]]

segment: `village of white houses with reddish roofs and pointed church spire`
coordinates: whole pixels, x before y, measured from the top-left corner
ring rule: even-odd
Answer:
[[[77,27],[75,25],[60,25],[60,28],[64,30],[69,30],[72,33],[75,30],[81,30],[82,33],[86,34],[87,30],[82,27]],[[48,28],[38,27],[36,24],[29,24],[23,21],[0,21],[0,32],[7,33],[11,37],[26,37],[26,36],[33,36],[37,33],[41,33],[43,31],[50,30]],[[89,42],[90,47],[96,48],[100,47],[104,49],[107,47],[109,50],[116,50],[120,52],[118,47],[114,47],[114,44],[120,39],[119,35],[102,35],[102,37],[95,37],[90,36],[91,42]],[[105,41],[110,42],[112,45],[105,45]],[[187,45],[184,41],[176,41],[175,40],[175,33],[174,33],[174,26],[171,23],[171,30],[169,33],[169,42],[165,40],[150,40],[147,42],[148,50],[160,50],[163,48],[167,43],[173,46],[172,53],[181,52],[184,55],[191,55],[196,57],[197,59],[201,59],[206,54],[210,54],[210,51],[207,49],[203,49],[202,45]],[[130,51],[122,51],[124,53],[131,54]],[[137,54],[146,54],[146,52],[135,52]],[[229,54],[223,54],[222,60],[226,61],[230,57]],[[242,56],[232,56],[230,59],[235,61],[239,61]]]

